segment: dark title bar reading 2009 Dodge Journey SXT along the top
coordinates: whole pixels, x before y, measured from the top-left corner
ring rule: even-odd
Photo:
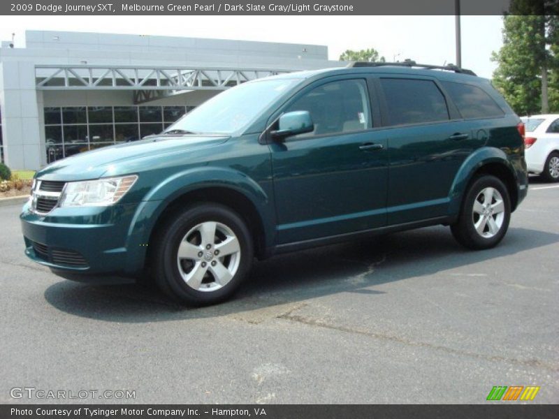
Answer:
[[[520,0],[460,0],[461,15],[549,14]],[[537,0],[533,0],[537,3]],[[553,1],[551,2],[553,3]],[[1,15],[456,15],[454,0],[8,0]]]

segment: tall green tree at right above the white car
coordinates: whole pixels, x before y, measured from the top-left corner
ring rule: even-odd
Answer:
[[[557,3],[514,0],[503,17],[503,45],[491,57],[499,65],[493,84],[518,114],[559,110]]]

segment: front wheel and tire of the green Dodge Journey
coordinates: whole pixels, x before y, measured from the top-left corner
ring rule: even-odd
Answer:
[[[223,205],[188,207],[161,228],[154,279],[166,295],[192,305],[222,302],[247,276],[254,250],[242,218]]]

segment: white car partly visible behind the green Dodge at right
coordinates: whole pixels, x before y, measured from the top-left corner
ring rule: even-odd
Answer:
[[[522,117],[528,172],[559,182],[559,114]]]

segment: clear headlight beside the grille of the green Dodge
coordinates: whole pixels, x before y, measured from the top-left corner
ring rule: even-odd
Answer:
[[[106,207],[118,202],[138,176],[68,182],[60,197],[60,207]]]

